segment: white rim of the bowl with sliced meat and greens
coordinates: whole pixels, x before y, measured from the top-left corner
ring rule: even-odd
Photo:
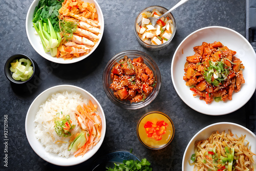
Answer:
[[[86,1],[86,0],[82,0],[82,1]],[[100,25],[100,38],[99,40],[97,41],[97,43],[94,45],[93,49],[86,55],[83,55],[83,56],[80,56],[78,58],[73,58],[71,60],[64,60],[63,58],[59,57],[59,58],[56,58],[56,57],[51,57],[51,55],[47,54],[47,53],[40,53],[40,51],[37,49],[37,47],[32,44],[32,39],[31,37],[29,36],[29,31],[28,31],[28,23],[31,22],[32,23],[32,20],[30,21],[29,20],[29,14],[32,12],[32,7],[35,3],[38,3],[39,0],[33,0],[33,2],[31,3],[30,7],[29,7],[29,10],[27,12],[27,15],[26,15],[26,33],[27,33],[27,37],[29,39],[29,42],[31,44],[31,46],[34,48],[34,50],[42,57],[44,57],[45,59],[49,60],[49,61],[52,61],[52,62],[55,62],[55,63],[61,63],[61,64],[69,64],[69,63],[75,63],[75,62],[78,62],[78,61],[81,61],[85,58],[87,58],[88,56],[90,56],[95,50],[96,48],[99,46],[100,44],[100,41],[103,37],[103,33],[104,33],[104,16],[103,16],[103,13],[102,13],[102,10],[99,6],[99,4],[97,3],[96,0],[90,0],[90,1],[93,1],[93,3],[95,4],[95,7],[98,7],[99,9],[97,9],[97,13],[98,15],[100,15],[102,17],[102,23]],[[36,4],[37,6],[37,4]],[[98,11],[99,10],[99,11]],[[39,44],[41,44],[41,42],[39,42]]]

